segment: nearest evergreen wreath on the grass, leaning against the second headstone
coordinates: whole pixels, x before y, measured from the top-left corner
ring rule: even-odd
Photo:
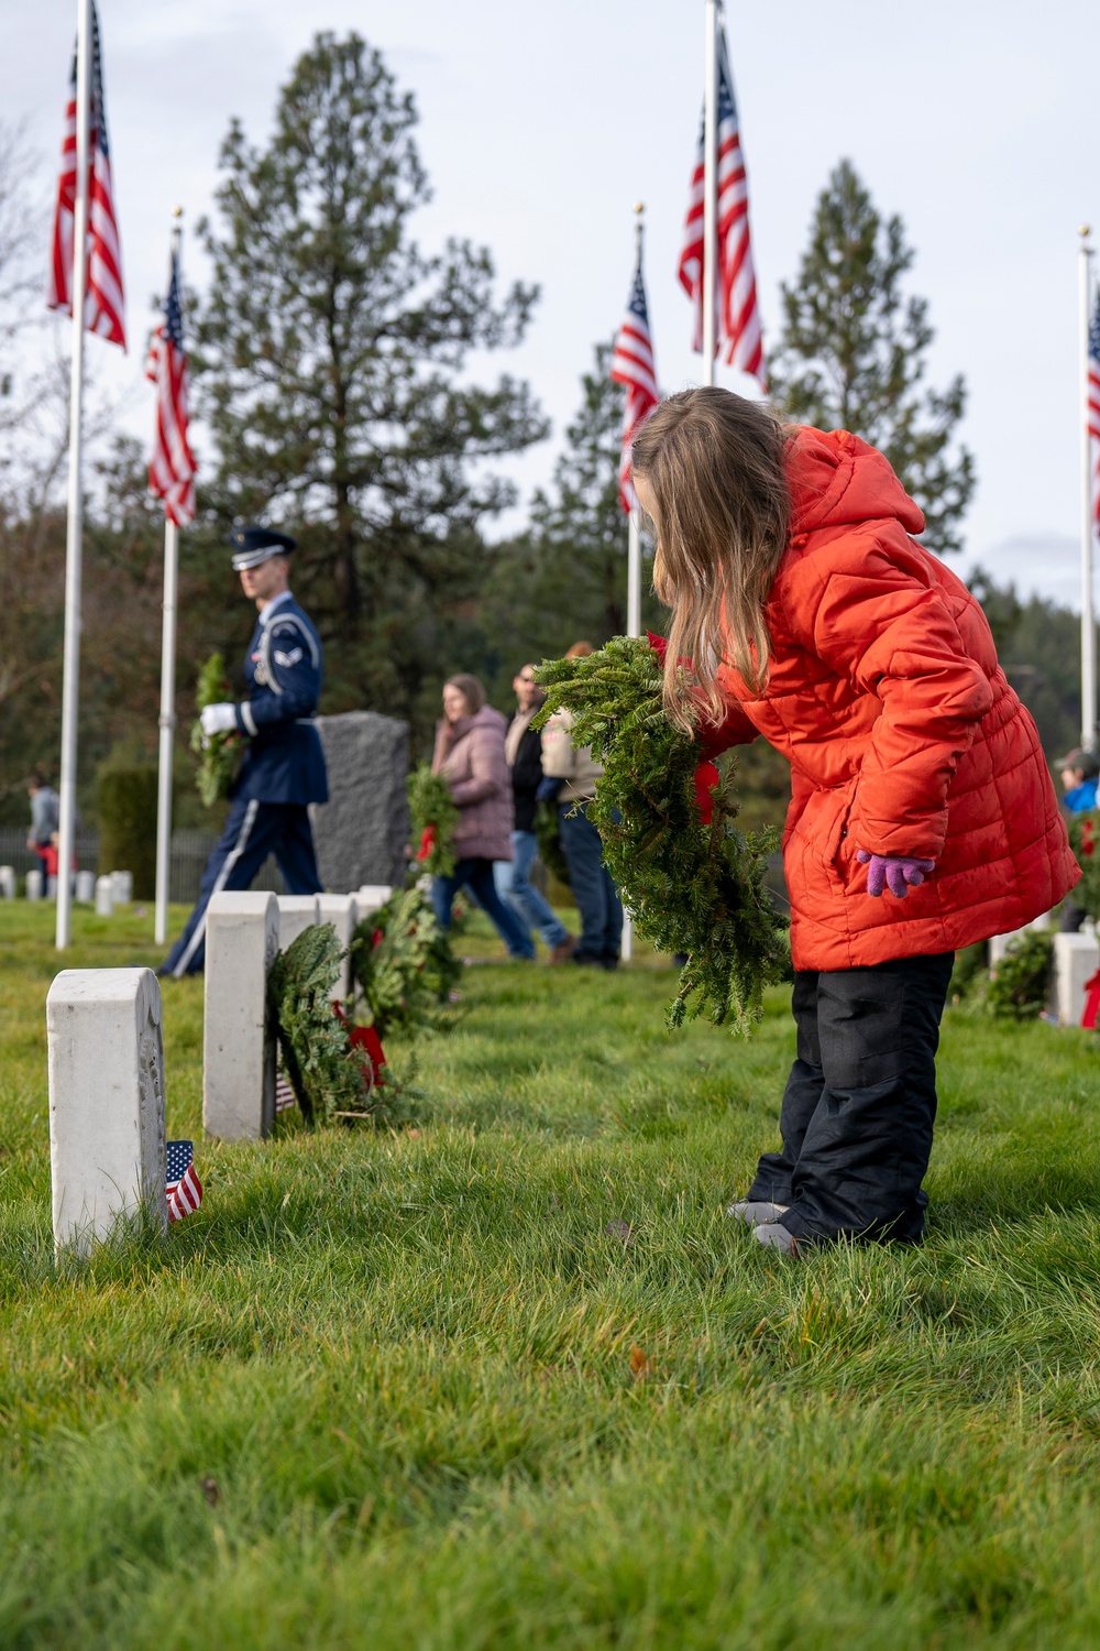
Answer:
[[[267,1004],[302,1116],[308,1124],[364,1118],[404,1123],[409,1098],[388,1080],[369,1086],[350,1027],[331,1002],[343,951],[331,923],[302,930],[275,954],[267,977]]]

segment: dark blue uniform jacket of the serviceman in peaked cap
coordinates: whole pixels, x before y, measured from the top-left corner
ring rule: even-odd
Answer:
[[[325,657],[313,622],[292,596],[259,617],[244,680],[249,697],[237,705],[237,728],[247,735],[234,797],[257,802],[328,802],[325,753],[313,721]]]

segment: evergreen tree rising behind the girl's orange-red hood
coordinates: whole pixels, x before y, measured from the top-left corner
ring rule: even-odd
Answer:
[[[925,299],[905,297],[914,263],[902,220],[886,221],[849,160],[818,196],[798,279],[782,286],[783,332],[769,363],[772,393],[790,418],[849,429],[881,447],[927,517],[930,550],[961,548],[958,522],[975,464],[953,449],[966,386],[922,386],[933,338]]]

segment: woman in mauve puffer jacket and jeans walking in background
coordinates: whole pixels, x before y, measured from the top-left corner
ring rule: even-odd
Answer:
[[[435,728],[432,773],[442,774],[458,806],[455,854],[450,877],[432,878],[432,905],[444,928],[460,888],[468,888],[491,920],[508,954],[534,956],[531,936],[496,893],[493,860],[511,860],[515,807],[505,758],[506,720],[485,703],[477,677],[457,675],[444,684],[444,718]]]

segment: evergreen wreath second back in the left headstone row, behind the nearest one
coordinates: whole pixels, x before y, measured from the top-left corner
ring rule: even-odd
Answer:
[[[391,1032],[416,1037],[452,1024],[450,992],[462,963],[419,888],[399,890],[363,918],[350,949],[369,1024],[383,1042]]]

